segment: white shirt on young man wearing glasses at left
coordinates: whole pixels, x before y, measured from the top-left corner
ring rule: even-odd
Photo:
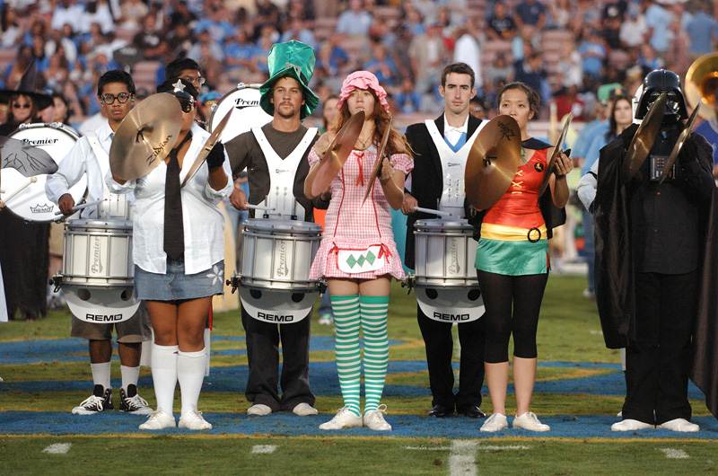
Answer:
[[[104,120],[101,127],[95,131],[100,145],[109,154],[109,147],[112,145],[112,129],[109,122]],[[102,162],[102,163],[101,163]],[[45,183],[45,194],[48,199],[57,203],[60,197],[70,193],[77,182],[81,181],[83,175],[87,177],[87,201],[93,202],[104,198],[105,177],[103,170],[109,170],[109,156],[97,157],[92,150],[92,145],[86,136],[80,137],[74,143],[73,148],[57,166],[57,172],[48,175]],[[132,203],[134,195],[127,197],[128,205]],[[97,207],[83,208],[80,217],[87,219],[96,216]]]

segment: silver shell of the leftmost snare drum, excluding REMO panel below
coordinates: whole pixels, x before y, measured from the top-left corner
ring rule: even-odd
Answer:
[[[75,286],[134,286],[132,222],[67,220],[62,281]]]

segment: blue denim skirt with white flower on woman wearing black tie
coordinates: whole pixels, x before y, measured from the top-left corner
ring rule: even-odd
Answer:
[[[149,301],[178,301],[221,295],[224,282],[224,260],[212,268],[196,274],[185,274],[183,259],[167,259],[167,272],[150,273],[135,265],[135,293],[137,299]]]

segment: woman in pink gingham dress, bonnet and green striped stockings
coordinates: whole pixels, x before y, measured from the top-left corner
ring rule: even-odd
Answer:
[[[404,279],[404,269],[391,231],[390,207],[398,210],[404,199],[404,179],[414,167],[408,145],[391,128],[386,91],[375,75],[357,71],[342,84],[336,129],[320,137],[310,154],[312,170],[320,167],[337,130],[363,110],[362,130],[341,172],[331,181],[331,201],[320,249],[311,264],[311,278],[327,278],[334,322],[339,385],[345,406],[320,429],[367,427],[390,430],[380,405],[389,361],[387,313],[391,278]],[[377,147],[390,128],[387,156]],[[363,202],[372,169],[382,161],[379,183]],[[309,181],[312,179],[308,179]],[[305,189],[306,190],[306,189]],[[327,193],[326,191],[324,193]],[[359,331],[363,331],[364,413],[360,411],[362,358]]]

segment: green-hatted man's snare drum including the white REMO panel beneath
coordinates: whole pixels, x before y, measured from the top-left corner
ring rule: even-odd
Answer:
[[[244,310],[263,322],[299,322],[311,311],[320,281],[310,279],[321,226],[294,220],[250,218],[242,224],[241,272]]]

